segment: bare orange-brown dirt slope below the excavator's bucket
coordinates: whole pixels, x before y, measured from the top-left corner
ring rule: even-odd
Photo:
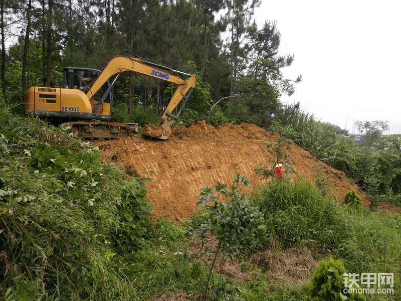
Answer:
[[[241,173],[251,179],[254,188],[260,187],[264,181],[253,169],[267,165],[267,160],[273,158],[265,149],[266,138],[274,143],[277,134],[253,124],[214,128],[200,121],[188,128],[173,128],[167,140],[154,141],[140,135],[93,144],[101,149],[106,162],[113,161],[129,173],[152,179],[145,185],[149,202],[154,205],[153,217],[165,215],[180,220],[196,208],[204,185],[212,187],[216,181],[230,185],[234,173]],[[319,161],[295,143],[287,153],[292,167],[312,179],[312,169]],[[323,166],[326,177],[332,180],[332,191],[338,188],[339,200],[354,189],[368,205],[366,196],[344,173]]]

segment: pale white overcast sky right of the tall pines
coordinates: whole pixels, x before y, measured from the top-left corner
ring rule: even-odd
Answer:
[[[399,0],[262,0],[259,29],[276,21],[279,54],[295,56],[284,77],[302,74],[281,100],[350,133],[354,121],[384,120],[384,134],[401,134],[400,13]]]

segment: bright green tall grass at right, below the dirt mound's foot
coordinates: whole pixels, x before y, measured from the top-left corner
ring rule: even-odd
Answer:
[[[325,256],[343,261],[349,272],[392,272],[394,297],[401,297],[399,215],[341,206],[302,178],[267,183],[255,202],[271,239],[283,246],[313,243]]]

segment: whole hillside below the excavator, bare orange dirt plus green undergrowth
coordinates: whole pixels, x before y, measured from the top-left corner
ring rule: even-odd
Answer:
[[[222,206],[231,206],[226,213],[238,225],[227,224],[226,237],[238,246],[242,239],[246,247],[234,261],[220,255],[214,261],[220,280],[211,298],[227,299],[236,287],[239,299],[306,301],[306,279],[319,261],[335,256],[348,271],[393,273],[389,299],[401,299],[399,215],[336,206],[305,180],[264,183],[254,168],[270,165],[275,148],[268,151],[265,142],[279,145],[277,134],[250,124],[213,128],[202,121],[174,129],[163,141],[142,135],[92,141],[101,153],[70,139],[65,128],[0,114],[3,299],[198,299],[209,277],[200,227],[211,231],[213,225],[205,216],[174,220],[192,214],[201,186],[230,184],[234,173],[250,177],[263,197]],[[295,144],[285,152],[297,173],[311,179],[320,162]],[[343,173],[326,166],[320,170],[332,180],[339,200],[356,189],[368,205]],[[134,175],[151,178],[144,181],[147,189]],[[163,215],[172,219],[157,219]],[[249,223],[250,216],[258,225]],[[243,229],[249,230],[246,237]],[[218,252],[219,237],[206,238],[205,246]],[[300,286],[287,291],[293,284]]]

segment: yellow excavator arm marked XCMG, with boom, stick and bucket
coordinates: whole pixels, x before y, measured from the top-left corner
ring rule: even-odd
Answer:
[[[173,75],[171,73],[161,71],[159,69],[165,69],[170,72],[181,73],[190,76],[188,79],[183,79],[180,76]],[[192,89],[195,87],[195,75],[190,75],[186,73],[182,73],[176,70],[172,70],[167,67],[163,67],[157,64],[146,62],[142,58],[133,58],[133,57],[126,57],[122,55],[118,55],[112,58],[104,67],[102,72],[100,73],[99,77],[93,83],[93,85],[86,91],[86,96],[89,100],[92,100],[93,95],[103,86],[103,84],[113,75],[117,76],[119,73],[123,72],[133,72],[137,74],[142,74],[148,77],[152,77],[155,79],[160,79],[162,81],[174,84],[177,86],[174,95],[171,97],[170,102],[167,105],[163,115],[161,116],[161,122],[159,129],[154,130],[153,133],[146,132],[148,136],[157,137],[160,139],[166,139],[171,134],[171,125],[177,119],[177,116],[172,114],[172,111],[176,108],[178,103],[185,97],[185,102],[188,99]],[[116,78],[115,78],[116,79]],[[114,80],[115,81],[115,80]],[[114,82],[113,82],[114,84]],[[113,85],[112,84],[112,85]],[[112,88],[110,85],[109,89],[104,93],[107,95],[110,89]],[[185,96],[187,94],[187,96]],[[92,100],[93,101],[93,100]],[[93,109],[93,113],[95,114],[99,107],[101,106],[102,102],[104,101],[104,97],[100,99],[97,105]],[[185,103],[184,102],[184,103]],[[172,121],[167,120],[167,116],[171,116],[174,119]]]

